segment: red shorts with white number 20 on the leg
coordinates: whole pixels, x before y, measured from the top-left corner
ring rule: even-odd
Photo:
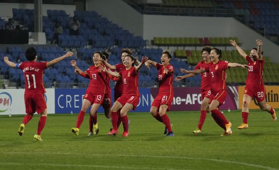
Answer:
[[[254,99],[256,98],[257,102],[262,102],[265,99],[265,87],[264,85],[246,85],[244,94],[247,94]]]

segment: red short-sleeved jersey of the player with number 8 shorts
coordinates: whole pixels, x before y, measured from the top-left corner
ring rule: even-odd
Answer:
[[[119,74],[122,77],[123,93],[122,95],[140,96],[139,91],[139,72],[136,67],[130,69],[122,69]]]

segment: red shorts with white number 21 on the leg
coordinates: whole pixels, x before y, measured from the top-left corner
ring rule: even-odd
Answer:
[[[172,100],[173,94],[158,94],[152,102],[151,106],[155,106],[159,110],[161,105],[167,105],[168,107],[166,111],[168,111],[171,107]]]

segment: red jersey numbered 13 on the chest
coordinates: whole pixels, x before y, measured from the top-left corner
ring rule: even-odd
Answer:
[[[90,77],[90,82],[86,91],[90,91],[93,94],[100,94],[100,93],[106,94],[107,88],[105,82],[107,78],[107,73],[101,71],[95,65],[89,67],[86,70],[86,72]]]

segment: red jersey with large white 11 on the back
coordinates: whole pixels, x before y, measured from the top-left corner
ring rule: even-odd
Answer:
[[[47,68],[46,62],[23,62],[16,65],[16,68],[23,70],[25,80],[24,94],[43,94],[46,89],[43,85],[43,73]]]

